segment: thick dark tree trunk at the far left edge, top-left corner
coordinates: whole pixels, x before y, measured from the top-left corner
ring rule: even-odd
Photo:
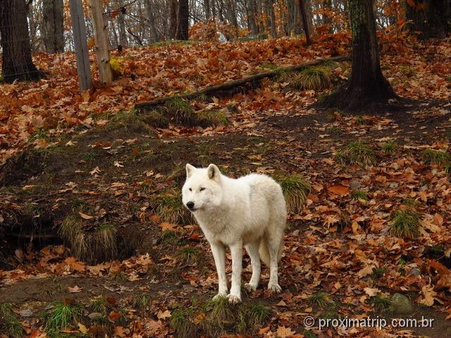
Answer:
[[[0,34],[5,82],[39,80],[42,73],[31,59],[25,1],[0,1]]]

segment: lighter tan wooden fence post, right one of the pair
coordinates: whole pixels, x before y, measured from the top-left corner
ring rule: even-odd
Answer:
[[[94,23],[94,41],[96,43],[97,65],[99,77],[103,84],[110,85],[113,82],[113,72],[110,65],[110,53],[108,35],[104,20],[104,8],[101,0],[90,0],[92,22]]]

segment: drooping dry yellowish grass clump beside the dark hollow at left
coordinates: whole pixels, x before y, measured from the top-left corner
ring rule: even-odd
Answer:
[[[104,223],[88,232],[83,228],[80,215],[73,214],[63,220],[58,233],[82,261],[97,263],[118,255],[117,229],[113,224]]]

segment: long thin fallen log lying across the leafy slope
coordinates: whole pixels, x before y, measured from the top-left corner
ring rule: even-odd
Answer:
[[[149,109],[154,106],[160,106],[161,104],[166,103],[166,101],[173,99],[175,96],[180,97],[180,99],[192,100],[192,99],[195,99],[202,95],[209,95],[209,94],[213,94],[216,92],[223,92],[226,90],[241,87],[244,84],[258,82],[260,80],[263,80],[264,78],[276,77],[276,76],[280,75],[281,72],[296,72],[296,71],[302,70],[304,68],[311,67],[312,65],[321,65],[321,63],[326,63],[326,62],[330,62],[330,61],[341,62],[341,61],[350,61],[350,60],[351,60],[351,56],[349,56],[349,55],[334,56],[333,58],[321,58],[319,60],[302,63],[301,65],[290,65],[289,67],[278,68],[277,70],[271,70],[271,71],[264,72],[264,73],[258,73],[258,74],[254,74],[254,75],[249,75],[247,77],[242,77],[241,79],[238,79],[238,80],[228,81],[228,82],[225,82],[222,84],[216,84],[214,86],[207,86],[207,87],[204,87],[203,89],[200,89],[197,92],[192,92],[189,94],[164,96],[164,97],[160,97],[159,99],[154,99],[152,101],[139,102],[139,103],[135,104],[135,108],[137,110],[140,110],[140,109]]]

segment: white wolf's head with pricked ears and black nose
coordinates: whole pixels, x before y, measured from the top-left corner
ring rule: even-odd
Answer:
[[[221,204],[221,172],[214,164],[208,168],[186,165],[186,181],[182,188],[183,205],[192,213],[213,209]]]

